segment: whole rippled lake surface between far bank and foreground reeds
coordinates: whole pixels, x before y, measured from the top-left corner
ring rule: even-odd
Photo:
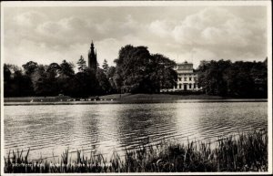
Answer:
[[[267,102],[5,106],[5,153],[30,151],[30,158],[63,151],[122,152],[162,140],[217,140],[222,135],[268,128]]]

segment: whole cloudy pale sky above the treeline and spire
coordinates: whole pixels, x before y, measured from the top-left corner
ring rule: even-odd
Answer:
[[[267,57],[265,6],[5,7],[5,63],[87,60],[91,40],[101,65],[121,47],[146,46],[177,62]]]

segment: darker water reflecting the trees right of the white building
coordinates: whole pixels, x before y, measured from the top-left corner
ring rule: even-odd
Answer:
[[[204,103],[198,108],[200,140],[268,128],[267,103]]]

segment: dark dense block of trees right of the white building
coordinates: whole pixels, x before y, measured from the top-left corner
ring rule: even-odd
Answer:
[[[264,62],[202,61],[197,71],[199,84],[208,95],[268,97],[268,58]]]

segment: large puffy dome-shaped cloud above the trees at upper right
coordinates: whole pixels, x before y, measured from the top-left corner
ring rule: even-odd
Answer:
[[[245,47],[251,32],[245,22],[226,9],[207,8],[187,16],[171,31],[181,44]]]

